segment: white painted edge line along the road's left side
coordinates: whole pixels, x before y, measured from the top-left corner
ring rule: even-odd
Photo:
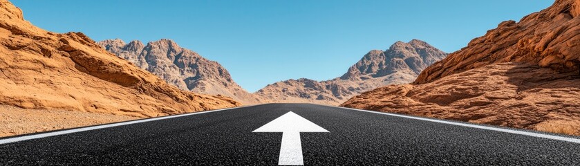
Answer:
[[[194,112],[194,113],[183,113],[183,114],[178,114],[178,115],[174,115],[174,116],[162,116],[162,117],[158,117],[158,118],[133,120],[133,121],[129,121],[129,122],[117,122],[117,123],[113,123],[113,124],[103,124],[103,125],[92,126],[92,127],[81,127],[81,128],[77,128],[77,129],[65,129],[62,131],[32,134],[32,135],[28,135],[28,136],[19,136],[19,137],[15,137],[15,138],[6,138],[6,139],[0,140],[0,145],[12,143],[12,142],[19,142],[19,141],[23,141],[23,140],[32,140],[32,139],[37,139],[37,138],[46,138],[46,137],[50,137],[50,136],[59,136],[59,135],[67,134],[67,133],[77,133],[77,132],[81,132],[81,131],[104,129],[104,128],[109,128],[109,127],[118,127],[118,126],[123,126],[123,125],[127,125],[127,124],[135,124],[135,123],[140,123],[140,122],[150,122],[150,121],[154,121],[154,120],[165,120],[165,119],[169,119],[169,118],[178,118],[178,117],[182,117],[182,116],[193,116],[193,115],[201,114],[201,113],[211,113],[211,112],[225,111],[225,110],[230,110],[230,109],[241,109],[244,107],[253,107],[253,106],[258,106],[258,105],[262,105],[262,104],[249,105],[249,106],[243,106],[243,107],[232,107],[232,108],[227,108],[227,109],[216,109],[216,110],[210,110],[210,111],[200,111],[200,112]]]

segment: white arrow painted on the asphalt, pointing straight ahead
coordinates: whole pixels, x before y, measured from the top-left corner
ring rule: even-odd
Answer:
[[[278,165],[304,165],[300,132],[329,132],[293,112],[264,124],[252,132],[282,132]]]

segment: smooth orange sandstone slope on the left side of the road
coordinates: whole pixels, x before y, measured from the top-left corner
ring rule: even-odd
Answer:
[[[240,105],[180,91],[82,33],[51,33],[0,0],[0,104],[153,117]]]

